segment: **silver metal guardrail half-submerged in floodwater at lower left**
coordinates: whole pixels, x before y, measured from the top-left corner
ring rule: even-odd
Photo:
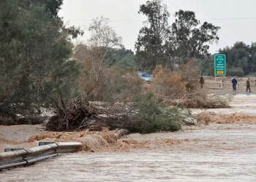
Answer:
[[[56,157],[59,154],[78,151],[82,143],[51,143],[49,145],[36,146],[31,149],[20,149],[0,153],[0,170],[11,167],[28,166],[43,159]]]

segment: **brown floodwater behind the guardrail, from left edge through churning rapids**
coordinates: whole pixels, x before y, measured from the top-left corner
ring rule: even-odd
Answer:
[[[0,151],[5,148],[31,148],[38,146],[39,141],[83,143],[81,151],[132,151],[135,149],[159,149],[173,146],[180,140],[170,138],[155,138],[143,140],[140,138],[123,137],[119,132],[103,130],[102,132],[45,132],[38,130],[42,126],[18,125],[0,127]]]

